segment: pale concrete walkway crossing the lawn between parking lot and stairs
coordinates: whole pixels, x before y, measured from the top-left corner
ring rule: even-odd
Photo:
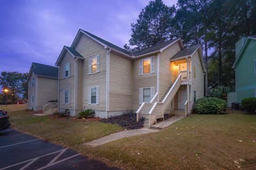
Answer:
[[[155,129],[148,129],[148,128],[142,128],[142,129],[135,129],[135,130],[127,130],[127,131],[121,131],[117,132],[114,134],[110,134],[107,137],[103,137],[97,140],[93,140],[90,142],[85,143],[85,145],[90,145],[92,147],[97,147],[99,145],[103,145],[105,143],[126,138],[126,137],[132,137],[135,135],[141,135],[141,134],[146,134],[146,133],[153,133],[153,132],[158,132],[158,130]]]

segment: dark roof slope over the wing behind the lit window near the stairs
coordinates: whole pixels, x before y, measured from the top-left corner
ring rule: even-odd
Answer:
[[[151,47],[147,47],[147,48],[144,48],[144,49],[133,52],[132,55],[138,57],[138,56],[143,55],[143,54],[157,52],[161,49],[163,50],[163,48],[165,48],[168,45],[172,45],[173,43],[175,43],[178,40],[180,40],[180,38],[175,38],[175,39],[166,41],[166,42],[161,43],[161,44],[157,44],[157,45],[154,45],[154,46],[151,46]]]

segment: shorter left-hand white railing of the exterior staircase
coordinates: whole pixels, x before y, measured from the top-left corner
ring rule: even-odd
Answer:
[[[144,115],[148,115],[151,107],[158,101],[158,92],[155,94],[155,96],[150,100],[150,102],[143,102],[138,111],[137,114],[137,122],[139,122],[139,119],[143,117]]]

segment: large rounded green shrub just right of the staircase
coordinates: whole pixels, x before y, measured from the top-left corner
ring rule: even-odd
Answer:
[[[198,99],[194,105],[198,114],[225,114],[227,102],[215,97]]]

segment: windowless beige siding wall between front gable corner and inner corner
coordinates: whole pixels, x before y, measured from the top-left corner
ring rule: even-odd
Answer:
[[[132,110],[132,65],[130,58],[110,52],[109,111]]]

